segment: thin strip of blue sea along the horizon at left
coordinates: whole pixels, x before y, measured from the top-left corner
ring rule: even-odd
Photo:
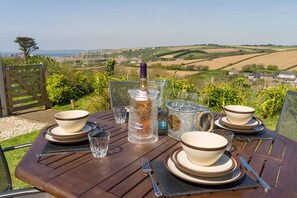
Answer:
[[[33,55],[44,55],[44,56],[51,56],[51,57],[60,57],[60,56],[74,56],[77,54],[91,52],[93,50],[36,50],[32,54]],[[21,53],[18,52],[0,52],[2,57],[5,56],[12,56]]]

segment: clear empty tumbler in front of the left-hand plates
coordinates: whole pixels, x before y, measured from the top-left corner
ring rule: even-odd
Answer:
[[[105,157],[108,150],[110,133],[94,130],[88,134],[90,148],[95,158]]]

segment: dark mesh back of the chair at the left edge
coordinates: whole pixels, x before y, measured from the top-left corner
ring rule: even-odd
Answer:
[[[12,190],[12,183],[4,151],[0,146],[0,192],[7,190]]]

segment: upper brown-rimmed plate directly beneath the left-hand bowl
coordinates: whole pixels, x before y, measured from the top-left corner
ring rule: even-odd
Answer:
[[[87,122],[87,124],[82,128],[82,130],[75,133],[64,132],[58,125],[53,125],[47,130],[47,134],[51,135],[56,139],[73,139],[86,136],[89,132],[95,129],[96,125],[92,122]]]

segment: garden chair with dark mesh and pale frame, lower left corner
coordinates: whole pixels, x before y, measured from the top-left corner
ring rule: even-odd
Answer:
[[[6,161],[4,152],[24,148],[30,146],[31,143],[21,144],[18,146],[11,146],[7,148],[2,148],[0,145],[0,198],[2,197],[23,197],[23,198],[47,198],[52,197],[51,195],[42,192],[36,188],[22,188],[22,189],[13,189],[11,176]]]

